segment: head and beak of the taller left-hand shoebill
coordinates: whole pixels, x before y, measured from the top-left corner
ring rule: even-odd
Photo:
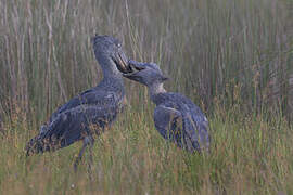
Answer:
[[[111,36],[94,36],[92,44],[95,58],[103,70],[128,73],[128,58],[122,49],[122,42]]]

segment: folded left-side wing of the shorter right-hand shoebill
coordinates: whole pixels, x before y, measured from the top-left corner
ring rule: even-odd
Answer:
[[[178,109],[165,105],[157,106],[154,110],[154,123],[161,135],[182,146],[182,116]]]

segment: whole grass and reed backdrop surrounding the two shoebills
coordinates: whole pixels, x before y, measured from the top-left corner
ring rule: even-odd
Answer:
[[[51,113],[101,80],[94,34],[202,107],[209,156],[166,143],[146,89],[125,80],[129,106],[94,145],[93,181],[87,158],[73,172],[80,144],[25,158]],[[3,194],[291,194],[292,119],[291,0],[0,0]]]

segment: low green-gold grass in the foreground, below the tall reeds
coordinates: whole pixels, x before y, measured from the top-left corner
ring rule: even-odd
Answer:
[[[97,139],[92,181],[88,153],[73,171],[81,143],[25,157],[36,133],[7,127],[1,136],[0,190],[4,194],[277,194],[293,192],[292,128],[282,117],[266,121],[239,112],[211,116],[212,153],[191,155],[165,142],[153,127],[151,107],[128,107]],[[146,113],[146,114],[145,114]],[[237,115],[237,117],[234,117]],[[14,127],[22,125],[13,123]],[[72,187],[74,185],[74,187]]]

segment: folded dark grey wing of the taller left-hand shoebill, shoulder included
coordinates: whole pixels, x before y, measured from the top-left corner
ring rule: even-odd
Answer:
[[[110,126],[119,109],[114,93],[89,90],[79,99],[74,98],[59,108],[50,120],[41,126],[39,139],[53,145],[54,140],[62,142],[62,147],[69,145],[89,131],[90,123],[98,128],[98,131]]]

